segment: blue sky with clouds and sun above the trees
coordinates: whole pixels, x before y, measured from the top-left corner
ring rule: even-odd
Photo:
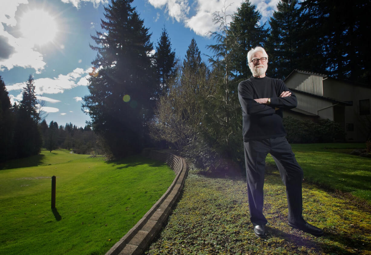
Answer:
[[[269,20],[279,0],[251,0]],[[89,115],[82,112],[82,97],[91,62],[91,35],[101,30],[104,6],[110,0],[0,0],[0,75],[12,103],[22,100],[28,76],[35,79],[36,95],[45,101],[46,122],[85,126]],[[203,54],[211,54],[208,31],[216,31],[212,14],[233,14],[242,0],[134,0],[155,46],[165,26],[176,56],[183,58],[194,38]],[[41,39],[41,40],[40,40]],[[206,60],[206,57],[204,57]]]

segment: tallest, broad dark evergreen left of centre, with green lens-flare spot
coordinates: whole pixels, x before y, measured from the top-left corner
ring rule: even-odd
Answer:
[[[90,95],[84,97],[93,130],[105,139],[116,157],[138,153],[145,142],[147,121],[152,117],[159,87],[149,53],[151,34],[131,7],[133,0],[112,0],[104,7],[105,33],[92,39],[98,46],[92,62],[99,74],[89,79]]]

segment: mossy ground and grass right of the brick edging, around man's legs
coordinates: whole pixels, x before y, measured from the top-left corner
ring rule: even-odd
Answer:
[[[324,229],[322,237],[288,225],[285,186],[278,169],[270,166],[273,159],[267,158],[267,238],[253,233],[245,178],[208,178],[190,166],[177,207],[145,254],[371,255],[370,204],[328,189],[341,188],[354,195],[370,192],[371,160],[345,154],[350,146],[362,145],[292,145],[305,172],[303,217]]]

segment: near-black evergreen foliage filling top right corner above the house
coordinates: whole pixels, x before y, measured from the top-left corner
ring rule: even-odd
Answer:
[[[316,72],[328,73],[339,79],[370,81],[371,64],[368,42],[364,36],[371,29],[368,0],[351,4],[335,0],[305,0],[302,47]],[[314,53],[314,55],[313,55]]]

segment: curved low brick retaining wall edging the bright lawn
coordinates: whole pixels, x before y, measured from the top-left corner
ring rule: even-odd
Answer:
[[[128,231],[105,255],[139,255],[150,245],[160,232],[171,208],[183,189],[187,164],[181,157],[165,150],[144,149],[142,155],[166,162],[174,170],[176,176],[170,187],[152,208]]]

